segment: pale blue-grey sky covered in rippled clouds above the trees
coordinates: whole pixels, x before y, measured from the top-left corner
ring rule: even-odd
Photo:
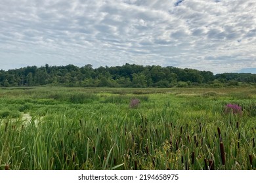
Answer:
[[[125,63],[256,73],[255,0],[1,0],[0,69]]]

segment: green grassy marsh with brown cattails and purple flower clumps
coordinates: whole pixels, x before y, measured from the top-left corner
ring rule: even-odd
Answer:
[[[1,88],[0,169],[256,169],[256,88]]]

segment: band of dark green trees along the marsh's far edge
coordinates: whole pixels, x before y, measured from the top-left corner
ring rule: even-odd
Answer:
[[[75,65],[42,67],[28,66],[0,71],[0,86],[76,86],[76,87],[158,87],[173,86],[238,86],[240,82],[256,83],[256,75],[224,73],[213,75],[210,71],[179,69],[156,65],[130,65],[98,67]]]

